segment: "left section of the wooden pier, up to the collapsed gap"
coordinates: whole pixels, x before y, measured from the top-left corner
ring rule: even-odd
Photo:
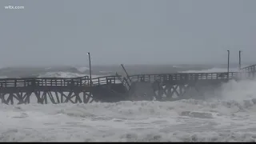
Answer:
[[[111,102],[110,95],[100,98],[101,94],[107,94],[106,90],[123,93],[122,86],[115,83],[116,76],[93,78],[90,86],[88,76],[80,78],[2,78],[0,79],[0,97],[2,103],[18,104],[30,103],[30,97],[37,98],[38,103],[54,104],[65,102]],[[106,89],[107,87],[107,89]],[[115,98],[117,99],[117,98]]]

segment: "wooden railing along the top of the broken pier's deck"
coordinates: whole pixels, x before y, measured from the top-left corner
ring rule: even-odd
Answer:
[[[238,72],[230,73],[179,73],[179,74],[138,74],[131,75],[131,82],[163,81],[194,81],[194,80],[218,80],[229,79],[238,76]],[[130,90],[131,82],[120,75],[104,76],[91,79],[92,86],[122,83]],[[88,76],[78,78],[2,78],[0,88],[22,86],[90,86]]]

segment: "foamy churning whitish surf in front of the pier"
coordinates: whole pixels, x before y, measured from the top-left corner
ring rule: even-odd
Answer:
[[[255,142],[255,86],[230,81],[205,100],[0,104],[0,142]]]

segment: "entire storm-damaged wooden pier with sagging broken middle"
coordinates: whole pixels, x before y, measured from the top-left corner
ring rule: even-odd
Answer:
[[[239,80],[242,75],[254,78],[254,66],[230,73],[179,73],[138,74],[90,78],[1,78],[0,98],[5,104],[30,103],[34,97],[38,103],[90,103],[134,100],[168,101],[193,98],[214,90],[230,79]],[[124,68],[124,67],[123,67]],[[125,70],[125,69],[124,69]],[[126,71],[126,70],[125,70]],[[91,83],[91,86],[90,86]]]

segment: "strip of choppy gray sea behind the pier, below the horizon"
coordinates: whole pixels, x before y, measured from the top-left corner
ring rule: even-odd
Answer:
[[[223,71],[226,65],[135,65],[126,66],[126,70],[131,74],[169,74],[181,71],[198,72]],[[230,70],[237,70],[237,65],[231,65]],[[92,73],[95,75],[111,75],[116,72],[123,73],[121,66],[92,66]],[[67,76],[63,73],[68,74]],[[1,78],[27,78],[27,77],[78,77],[89,74],[88,66],[41,66],[41,67],[3,67],[0,69]]]

